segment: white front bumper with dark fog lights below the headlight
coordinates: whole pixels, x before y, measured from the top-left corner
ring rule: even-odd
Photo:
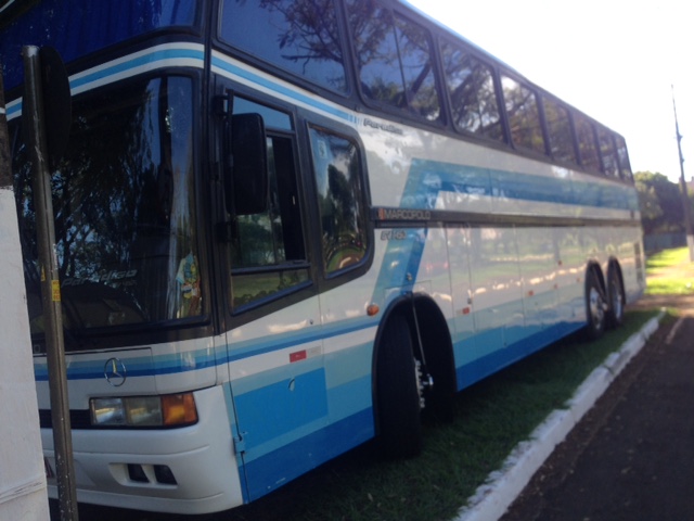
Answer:
[[[243,503],[221,386],[194,393],[198,422],[168,430],[73,430],[77,500],[176,513]],[[57,497],[53,434],[41,430],[50,497]]]

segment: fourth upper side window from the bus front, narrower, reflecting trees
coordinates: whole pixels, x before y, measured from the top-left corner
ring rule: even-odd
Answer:
[[[502,76],[503,99],[514,145],[544,153],[542,125],[535,91],[529,87]]]

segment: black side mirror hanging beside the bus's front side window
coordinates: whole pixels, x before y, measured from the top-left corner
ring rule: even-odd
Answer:
[[[227,207],[235,215],[268,208],[268,145],[260,114],[231,117],[231,168],[224,179]]]

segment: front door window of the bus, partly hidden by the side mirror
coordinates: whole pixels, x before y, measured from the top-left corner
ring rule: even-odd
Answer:
[[[261,114],[267,129],[268,204],[239,215],[229,247],[231,302],[235,310],[261,304],[310,283],[299,207],[294,132],[287,114],[234,99],[234,114]]]

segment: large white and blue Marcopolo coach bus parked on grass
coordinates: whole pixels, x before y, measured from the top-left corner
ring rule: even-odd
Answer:
[[[200,513],[424,416],[644,290],[625,139],[396,0],[0,8],[41,436],[24,45],[72,92],[52,190],[80,501]]]

